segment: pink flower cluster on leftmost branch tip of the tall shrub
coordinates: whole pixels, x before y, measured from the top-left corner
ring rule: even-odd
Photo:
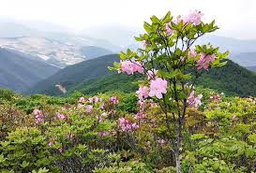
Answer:
[[[131,75],[135,72],[143,74],[143,64],[140,62],[121,61],[121,71]]]

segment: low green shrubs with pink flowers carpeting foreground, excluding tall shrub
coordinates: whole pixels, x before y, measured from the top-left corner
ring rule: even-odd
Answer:
[[[83,96],[72,104],[38,100],[42,106],[28,114],[5,99],[0,170],[175,172],[173,144],[159,106],[148,100],[134,109],[137,99],[128,102],[133,96],[117,95]],[[203,105],[188,110],[182,171],[256,171],[255,99],[207,90],[203,95]]]

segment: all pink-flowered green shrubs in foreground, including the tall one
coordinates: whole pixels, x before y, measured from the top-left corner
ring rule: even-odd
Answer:
[[[255,172],[255,98],[194,86],[227,55],[192,47],[218,29],[202,16],[144,23],[143,49],[121,52],[113,67],[142,76],[136,94],[4,94],[0,171]]]

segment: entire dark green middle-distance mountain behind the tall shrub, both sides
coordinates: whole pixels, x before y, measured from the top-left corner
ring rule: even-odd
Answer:
[[[68,93],[80,91],[85,94],[104,93],[113,90],[123,92],[136,91],[139,76],[113,74],[107,66],[119,61],[118,55],[102,56],[77,65],[68,66],[58,73],[39,81],[30,90],[30,94],[62,94],[55,87],[60,84]],[[221,68],[210,69],[198,80],[198,85],[211,88],[225,94],[240,96],[256,95],[256,75],[245,67],[229,61]]]

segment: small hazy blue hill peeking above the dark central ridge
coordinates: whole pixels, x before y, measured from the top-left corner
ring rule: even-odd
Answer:
[[[85,46],[81,49],[81,52],[83,56],[85,56],[85,60],[98,58],[99,56],[104,56],[108,54],[113,54],[111,50],[107,50],[96,46]]]

